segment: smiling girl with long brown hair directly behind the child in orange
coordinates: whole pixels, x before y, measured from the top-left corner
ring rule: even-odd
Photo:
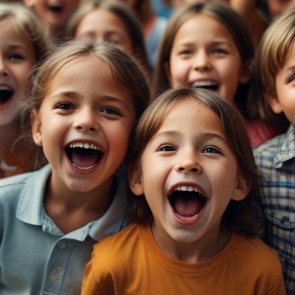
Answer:
[[[212,89],[235,100],[247,118],[253,59],[246,24],[228,5],[205,2],[184,6],[172,16],[163,36],[155,92],[170,87]],[[252,141],[250,121],[248,125]]]

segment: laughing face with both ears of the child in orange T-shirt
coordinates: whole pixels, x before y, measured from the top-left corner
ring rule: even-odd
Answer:
[[[167,113],[130,174],[132,191],[149,203],[162,248],[198,243],[206,251],[218,240],[229,201],[246,196],[243,183],[220,118],[191,98]]]

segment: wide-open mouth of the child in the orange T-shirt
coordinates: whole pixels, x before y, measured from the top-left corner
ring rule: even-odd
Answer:
[[[174,213],[182,220],[195,218],[205,206],[207,199],[193,186],[178,186],[169,197]]]

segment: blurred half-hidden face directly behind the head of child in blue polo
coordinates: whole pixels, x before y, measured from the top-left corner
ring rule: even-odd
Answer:
[[[90,12],[81,20],[75,38],[109,41],[130,55],[134,53],[132,39],[122,19],[103,8]]]

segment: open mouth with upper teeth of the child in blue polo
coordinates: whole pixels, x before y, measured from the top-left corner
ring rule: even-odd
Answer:
[[[72,165],[79,170],[90,170],[95,167],[104,155],[100,149],[89,143],[72,143],[65,149]]]

